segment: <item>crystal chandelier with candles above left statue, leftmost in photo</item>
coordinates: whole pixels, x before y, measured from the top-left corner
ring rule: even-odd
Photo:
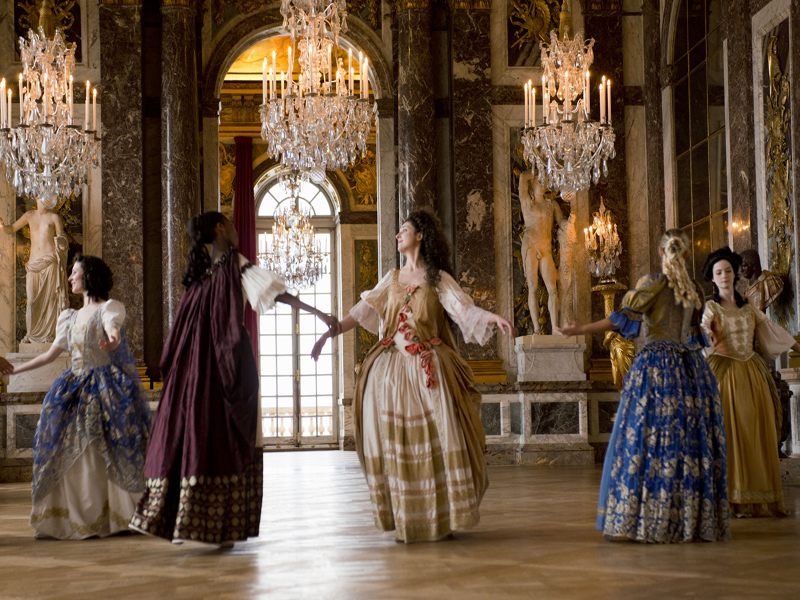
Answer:
[[[52,38],[28,32],[19,39],[23,71],[19,75],[20,117],[11,119],[12,86],[0,82],[6,102],[0,110],[0,159],[6,177],[18,195],[39,199],[47,208],[58,199],[79,193],[87,171],[98,165],[100,140],[97,130],[97,90],[94,90],[94,126],[89,122],[89,89],[86,82],[85,121],[73,124],[75,48],[67,47],[61,30]]]

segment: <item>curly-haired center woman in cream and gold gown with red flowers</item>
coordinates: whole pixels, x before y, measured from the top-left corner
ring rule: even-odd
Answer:
[[[340,324],[383,336],[356,382],[356,449],[378,528],[398,541],[435,541],[478,523],[488,485],[481,395],[446,316],[466,342],[485,344],[495,325],[515,331],[447,272],[450,250],[431,213],[409,215],[397,249],[405,266],[364,292]],[[314,358],[335,333],[317,341]]]

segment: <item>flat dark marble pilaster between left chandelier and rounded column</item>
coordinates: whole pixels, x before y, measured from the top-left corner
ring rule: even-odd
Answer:
[[[114,298],[126,309],[125,334],[143,364],[142,18],[141,3],[100,0],[102,256]]]

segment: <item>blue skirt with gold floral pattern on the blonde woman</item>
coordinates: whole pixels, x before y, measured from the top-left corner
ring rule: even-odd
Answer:
[[[597,528],[649,543],[730,538],[725,426],[697,345],[645,346],[625,377],[600,488]]]

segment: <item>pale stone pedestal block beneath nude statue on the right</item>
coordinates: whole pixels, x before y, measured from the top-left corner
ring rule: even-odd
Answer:
[[[514,352],[517,381],[586,380],[586,336],[523,335]]]

